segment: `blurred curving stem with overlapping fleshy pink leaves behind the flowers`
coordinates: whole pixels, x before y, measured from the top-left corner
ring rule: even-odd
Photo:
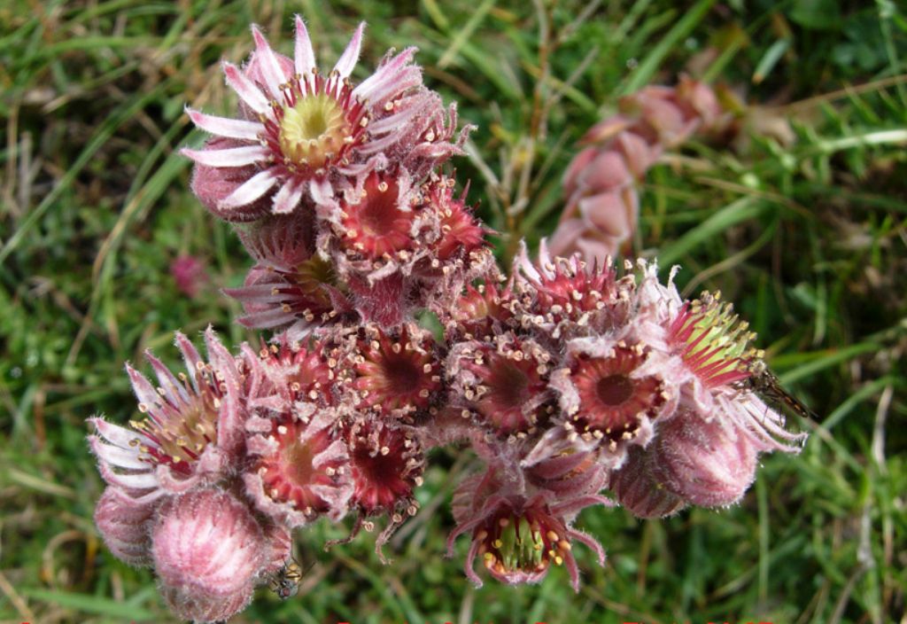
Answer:
[[[636,184],[665,150],[713,129],[722,110],[705,83],[648,86],[620,100],[619,112],[592,126],[564,174],[567,206],[551,251],[587,261],[627,254],[639,220]]]

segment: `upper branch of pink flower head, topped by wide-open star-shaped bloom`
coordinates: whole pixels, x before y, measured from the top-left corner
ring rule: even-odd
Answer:
[[[223,65],[239,118],[187,111],[214,135],[183,150],[196,163],[192,190],[256,260],[228,291],[248,327],[297,337],[348,318],[393,327],[493,264],[483,227],[439,170],[470,127],[457,132],[456,107],[424,86],[414,48],[354,84],[364,28],[323,73],[301,18],[292,59],[253,27],[249,63]]]

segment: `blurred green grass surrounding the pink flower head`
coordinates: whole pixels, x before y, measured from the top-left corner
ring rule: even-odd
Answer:
[[[907,15],[889,0],[5,2],[0,621],[171,621],[149,572],[93,528],[84,419],[132,417],[123,363],[147,347],[175,363],[175,329],[251,337],[218,292],[249,259],[188,190],[177,150],[203,137],[182,110],[229,112],[217,63],[247,56],[249,23],[291,54],[294,13],[321,67],[367,20],[360,78],[386,48],[419,46],[427,82],[479,126],[455,166],[502,259],[551,232],[575,141],[620,95],[688,72],[751,104],[727,137],[650,171],[639,242],[683,265],[681,287],[735,301],[820,420],[794,423],[814,430],[802,455],[765,457],[732,509],[584,512],[609,561],[578,548],[578,595],[563,570],[466,582],[465,540],[442,555],[472,460],[439,453],[393,565],[365,535],[321,551],[343,531],[319,524],[298,538],[313,567],[297,598],[261,590],[236,621],[907,621]],[[187,254],[205,266],[198,297],[169,270]]]

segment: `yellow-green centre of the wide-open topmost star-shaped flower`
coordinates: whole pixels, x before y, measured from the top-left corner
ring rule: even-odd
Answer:
[[[343,108],[333,97],[326,93],[308,95],[284,110],[280,150],[286,164],[317,169],[352,141],[351,131]]]

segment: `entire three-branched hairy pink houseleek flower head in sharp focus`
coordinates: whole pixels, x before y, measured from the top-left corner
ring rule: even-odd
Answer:
[[[127,366],[138,419],[92,419],[97,526],[115,556],[153,568],[180,618],[229,619],[275,580],[291,595],[293,533],[322,518],[349,518],[350,539],[377,524],[384,559],[435,447],[478,458],[448,541],[468,539],[471,580],[562,565],[579,589],[574,545],[605,558],[574,526],[582,509],[728,505],[758,453],[801,440],[759,398],[761,353],[717,295],[685,301],[654,264],[544,245],[503,276],[440,169],[466,132],[454,107],[412,49],[351,83],[362,31],[319,73],[300,19],[292,59],[253,29],[249,63],[224,64],[238,118],[189,112],[216,135],[184,151],[193,189],[255,262],[227,294],[272,334],[231,353],[208,330],[204,357],[177,334],[184,372],[151,354],[155,381]]]

